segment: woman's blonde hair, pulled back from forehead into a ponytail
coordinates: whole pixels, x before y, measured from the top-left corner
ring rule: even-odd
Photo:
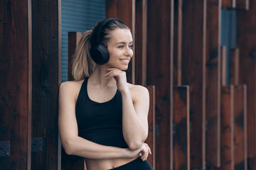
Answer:
[[[102,22],[103,21],[98,22],[93,30],[87,30],[83,33],[82,38],[75,49],[72,66],[72,75],[75,81],[80,81],[85,79],[85,77],[90,77],[93,69],[95,68],[96,63],[92,60],[90,55],[91,45],[101,43],[107,47],[107,42],[110,40],[112,30],[115,30],[116,28],[129,30],[122,21],[112,20],[102,28],[99,42],[97,42],[97,30],[100,28]]]

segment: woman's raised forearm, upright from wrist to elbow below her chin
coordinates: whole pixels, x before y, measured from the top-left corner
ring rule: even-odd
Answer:
[[[122,91],[122,128],[124,140],[130,149],[141,147],[147,137],[147,129],[134,110],[129,90]]]

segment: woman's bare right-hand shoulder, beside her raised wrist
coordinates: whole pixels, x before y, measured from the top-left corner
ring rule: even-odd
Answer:
[[[149,98],[149,91],[146,87],[134,84],[128,84],[128,86],[133,99]]]

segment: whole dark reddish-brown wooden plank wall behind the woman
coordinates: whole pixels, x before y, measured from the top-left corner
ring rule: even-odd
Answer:
[[[235,49],[220,47],[223,8],[238,12]],[[154,169],[256,169],[256,1],[110,0],[106,16],[132,30],[127,79],[150,92]],[[60,154],[60,17],[60,0],[0,1],[4,169],[85,169]]]

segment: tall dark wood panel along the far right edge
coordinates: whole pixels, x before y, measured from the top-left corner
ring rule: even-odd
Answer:
[[[247,85],[247,154],[256,156],[256,1],[249,11],[238,11],[238,48],[240,84]]]

